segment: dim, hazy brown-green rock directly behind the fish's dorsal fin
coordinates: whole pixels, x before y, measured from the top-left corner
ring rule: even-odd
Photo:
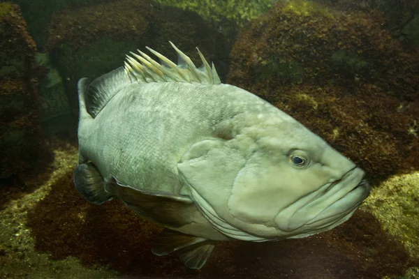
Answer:
[[[117,0],[61,10],[53,15],[48,34],[47,50],[64,79],[73,110],[78,110],[75,92],[80,78],[98,77],[123,66],[124,56],[143,45],[169,52],[168,40],[172,40],[193,61],[200,61],[198,46],[217,63],[221,77],[228,67],[230,46],[225,34],[196,13],[149,0]],[[175,54],[168,58],[177,59]]]

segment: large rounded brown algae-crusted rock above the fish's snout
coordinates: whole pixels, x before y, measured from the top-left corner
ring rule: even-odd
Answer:
[[[228,83],[291,114],[376,179],[419,169],[419,50],[405,51],[383,21],[374,10],[278,3],[240,34]]]

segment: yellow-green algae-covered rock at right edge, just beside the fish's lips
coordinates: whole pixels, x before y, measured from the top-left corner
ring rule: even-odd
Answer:
[[[402,241],[412,257],[419,255],[419,172],[392,176],[372,190],[361,209]]]

